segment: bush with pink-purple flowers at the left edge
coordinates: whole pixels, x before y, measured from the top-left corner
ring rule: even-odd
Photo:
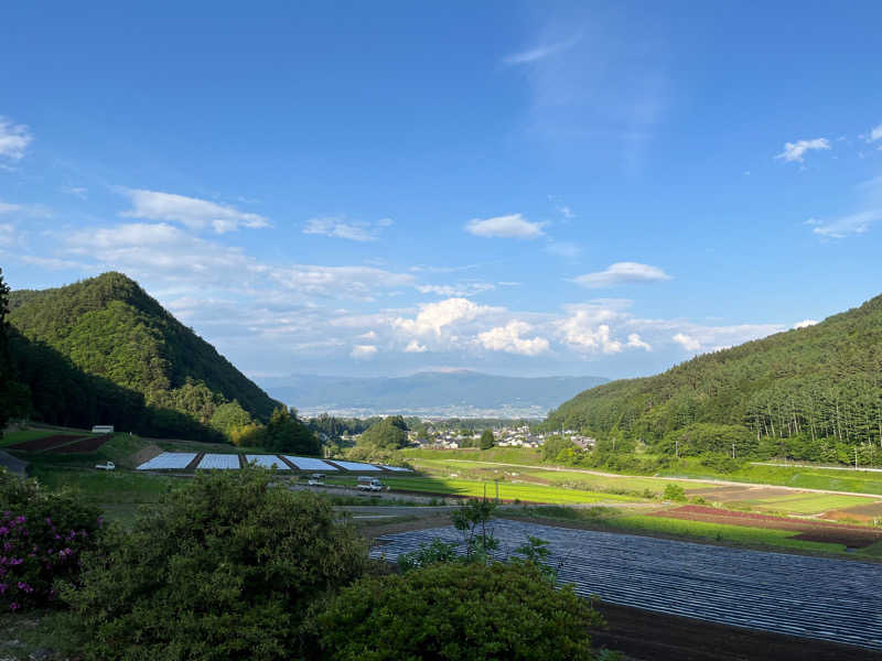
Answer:
[[[0,468],[0,611],[53,603],[53,584],[77,581],[100,529],[97,508]]]

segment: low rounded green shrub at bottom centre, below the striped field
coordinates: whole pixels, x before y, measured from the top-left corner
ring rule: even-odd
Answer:
[[[316,618],[315,658],[579,661],[600,622],[533,563],[440,563],[343,589]]]

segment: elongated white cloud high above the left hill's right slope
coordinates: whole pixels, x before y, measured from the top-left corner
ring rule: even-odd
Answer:
[[[132,208],[122,213],[129,218],[180,223],[190,229],[211,226],[217,234],[235,231],[239,226],[252,229],[269,227],[263,216],[206,199],[139,188],[125,188],[123,193],[132,202]]]

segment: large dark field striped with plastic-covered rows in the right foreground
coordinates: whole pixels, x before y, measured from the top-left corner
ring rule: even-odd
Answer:
[[[620,533],[497,520],[499,553],[528,535],[549,542],[549,564],[582,596],[684,617],[882,650],[882,566]],[[394,561],[421,543],[462,542],[452,527],[377,538]]]

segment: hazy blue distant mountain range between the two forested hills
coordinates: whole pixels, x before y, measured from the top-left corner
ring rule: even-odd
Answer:
[[[499,377],[470,370],[409,377],[292,375],[258,379],[272,398],[295,407],[303,415],[401,413],[427,418],[544,418],[552,407],[607,380]]]

